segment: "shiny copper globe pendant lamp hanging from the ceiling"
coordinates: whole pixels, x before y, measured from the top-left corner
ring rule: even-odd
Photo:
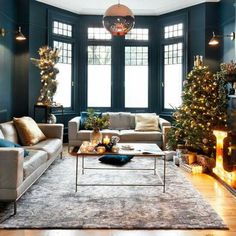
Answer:
[[[103,26],[113,36],[126,35],[134,27],[134,23],[133,12],[120,2],[110,6],[103,16]]]

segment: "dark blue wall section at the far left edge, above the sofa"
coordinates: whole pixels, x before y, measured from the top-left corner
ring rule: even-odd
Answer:
[[[0,37],[0,122],[12,116],[12,81],[14,78],[15,41],[13,31],[16,28],[16,1],[0,0],[0,28],[7,32]]]

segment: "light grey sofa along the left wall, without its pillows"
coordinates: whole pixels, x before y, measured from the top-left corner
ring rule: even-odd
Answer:
[[[14,202],[44,173],[63,148],[63,124],[38,124],[47,137],[33,146],[0,148],[0,201]],[[12,121],[0,124],[0,138],[19,143]]]

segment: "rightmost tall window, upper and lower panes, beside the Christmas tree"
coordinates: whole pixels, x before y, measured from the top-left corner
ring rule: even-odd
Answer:
[[[181,105],[183,80],[183,23],[164,27],[164,109]]]

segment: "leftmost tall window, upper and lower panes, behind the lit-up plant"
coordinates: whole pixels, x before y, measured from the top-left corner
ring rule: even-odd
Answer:
[[[72,25],[59,21],[53,21],[53,47],[60,50],[60,59],[56,67],[59,69],[57,74],[58,87],[54,96],[54,101],[64,107],[71,107],[72,97],[72,54],[73,44],[65,42],[60,37],[72,38]]]

